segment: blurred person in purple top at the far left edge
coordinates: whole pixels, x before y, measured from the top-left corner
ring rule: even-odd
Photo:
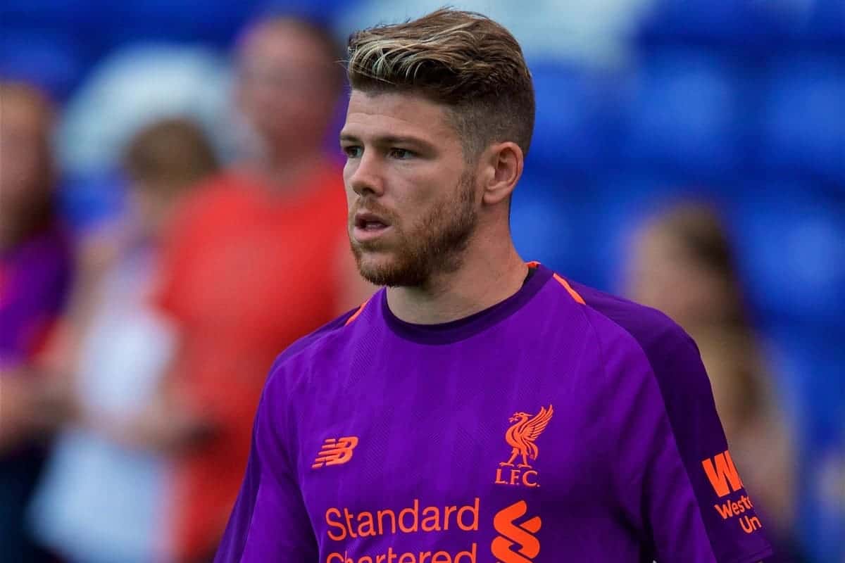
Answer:
[[[53,116],[37,89],[0,83],[0,552],[10,561],[43,557],[22,522],[60,393],[36,363],[73,270],[55,211]]]

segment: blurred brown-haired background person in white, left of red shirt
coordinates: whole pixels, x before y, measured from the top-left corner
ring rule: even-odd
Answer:
[[[166,560],[164,454],[170,436],[204,431],[187,410],[166,409],[174,335],[150,293],[173,211],[217,170],[215,154],[193,122],[170,119],[131,139],[123,169],[127,213],[82,244],[79,282],[51,346],[76,412],[30,512],[36,536],[79,563]]]

